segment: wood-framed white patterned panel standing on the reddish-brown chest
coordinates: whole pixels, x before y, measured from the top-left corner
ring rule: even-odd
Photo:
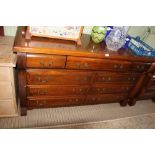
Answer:
[[[26,39],[32,36],[72,40],[81,45],[83,26],[28,26]]]

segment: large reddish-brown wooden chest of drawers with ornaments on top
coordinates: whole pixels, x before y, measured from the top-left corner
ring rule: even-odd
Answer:
[[[22,115],[27,109],[119,102],[134,105],[140,99],[155,59],[133,56],[131,51],[108,53],[101,45],[32,38],[19,29],[17,52]],[[152,69],[153,68],[153,69]]]

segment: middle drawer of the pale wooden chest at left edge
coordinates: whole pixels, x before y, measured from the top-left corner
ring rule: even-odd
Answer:
[[[0,82],[0,100],[12,98],[11,82]]]

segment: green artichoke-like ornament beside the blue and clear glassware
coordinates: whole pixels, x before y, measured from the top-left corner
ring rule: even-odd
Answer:
[[[91,38],[94,43],[101,43],[107,32],[106,26],[94,26],[91,33]]]

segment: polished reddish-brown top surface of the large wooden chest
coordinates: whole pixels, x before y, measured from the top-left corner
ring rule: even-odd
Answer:
[[[77,44],[72,41],[42,37],[32,37],[30,41],[27,41],[23,32],[24,27],[19,27],[14,42],[14,52],[70,55],[148,63],[155,62],[155,58],[135,56],[132,51],[126,49],[120,49],[117,52],[109,52],[105,44],[93,43],[90,35],[87,34],[82,35],[81,45],[77,46]]]

